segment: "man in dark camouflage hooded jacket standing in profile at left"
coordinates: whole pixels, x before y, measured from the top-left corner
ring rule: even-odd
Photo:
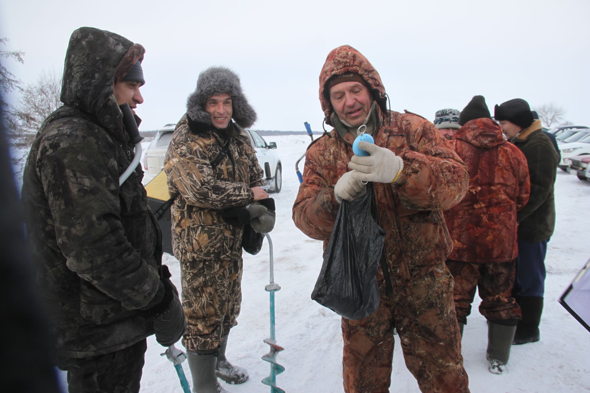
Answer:
[[[27,237],[70,392],[139,392],[146,337],[169,346],[185,330],[141,167],[119,184],[133,158],[119,105],[143,103],[144,52],[112,32],[74,31],[64,105],[25,166]]]

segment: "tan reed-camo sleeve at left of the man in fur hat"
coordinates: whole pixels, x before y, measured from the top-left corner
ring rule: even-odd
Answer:
[[[178,190],[186,203],[206,209],[225,210],[244,206],[254,200],[250,184],[215,176],[211,158],[207,154],[208,149],[212,148],[211,139],[194,138],[189,142],[186,135],[181,135],[182,132],[186,133],[186,130],[179,128],[172,137],[164,170],[169,186]],[[230,150],[232,148],[235,146]],[[228,154],[232,154],[231,151]]]

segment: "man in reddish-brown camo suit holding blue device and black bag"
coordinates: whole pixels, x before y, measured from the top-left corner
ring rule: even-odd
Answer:
[[[444,264],[451,239],[441,212],[467,190],[463,161],[430,121],[386,109],[381,77],[348,45],[327,56],[319,93],[325,121],[334,129],[307,149],[293,220],[307,236],[324,240],[325,250],[340,201],[363,193],[366,180],[373,181],[386,231],[379,308],[360,321],[342,318],[345,391],[388,392],[397,328],[422,392],[469,392],[453,277]],[[359,144],[368,157],[355,156],[351,146],[362,124],[375,140]]]

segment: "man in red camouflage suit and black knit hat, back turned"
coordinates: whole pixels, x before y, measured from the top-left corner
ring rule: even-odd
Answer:
[[[480,312],[489,321],[489,370],[500,374],[520,319],[512,297],[516,245],[516,212],[529,200],[525,155],[502,137],[486,101],[476,95],[459,115],[460,130],[450,141],[467,164],[469,190],[444,212],[453,252],[447,266],[454,278],[453,300],[461,334],[478,289]]]

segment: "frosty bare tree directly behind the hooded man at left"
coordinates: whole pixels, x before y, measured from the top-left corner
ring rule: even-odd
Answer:
[[[43,71],[37,82],[22,89],[18,104],[6,112],[6,136],[15,153],[13,164],[21,169],[19,177],[41,123],[62,105],[60,91],[61,76],[55,70]]]

